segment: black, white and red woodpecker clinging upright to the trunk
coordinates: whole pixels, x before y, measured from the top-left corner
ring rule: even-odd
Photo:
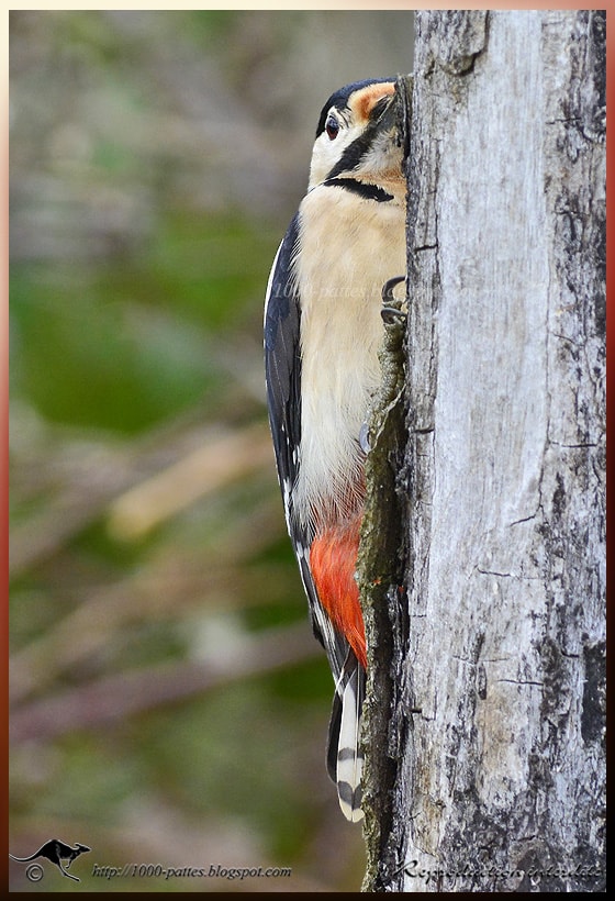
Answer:
[[[380,381],[382,286],[406,268],[399,102],[387,78],[348,85],[323,107],[308,192],[276,255],[265,307],[278,479],[312,627],[334,677],[327,769],[351,822],[364,815],[367,653],[355,570],[366,420]]]

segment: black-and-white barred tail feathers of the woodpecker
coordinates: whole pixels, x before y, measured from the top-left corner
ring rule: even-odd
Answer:
[[[366,674],[353,650],[336,685],[328,732],[327,769],[337,783],[342,812],[351,823],[362,820],[361,775],[364,754],[359,747],[361,708],[365,698]]]

